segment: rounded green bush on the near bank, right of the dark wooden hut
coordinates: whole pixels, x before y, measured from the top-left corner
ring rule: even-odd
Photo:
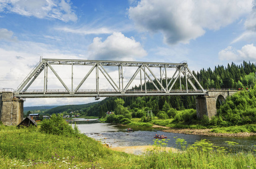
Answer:
[[[77,126],[73,128],[71,124],[68,124],[62,118],[62,114],[53,114],[50,119],[44,119],[41,123],[40,132],[64,136],[77,136],[80,134]]]

